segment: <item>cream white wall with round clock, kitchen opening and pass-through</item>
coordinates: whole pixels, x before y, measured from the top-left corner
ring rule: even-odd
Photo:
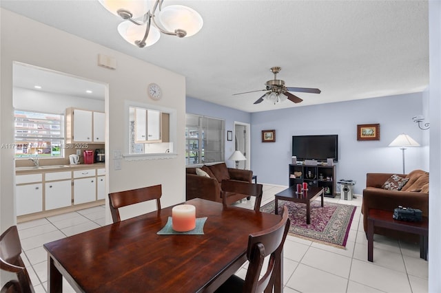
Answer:
[[[105,144],[107,192],[122,191],[154,184],[163,185],[162,206],[170,206],[185,199],[185,77],[156,67],[48,25],[32,21],[19,14],[1,9],[1,102],[0,143],[14,141],[12,107],[12,63],[19,61],[73,76],[81,76],[108,85],[107,140]],[[141,49],[140,49],[141,50]],[[116,58],[117,69],[98,67],[98,54]],[[176,109],[178,141],[174,146],[177,158],[122,162],[120,171],[114,170],[112,154],[123,150],[125,129],[124,101],[147,102],[147,85],[157,83],[163,88],[163,98],[156,105]],[[108,205],[108,203],[107,203]],[[154,208],[154,203],[145,207]],[[15,224],[14,161],[12,149],[0,154],[0,230]],[[144,213],[142,208],[130,210],[129,215]],[[107,208],[107,222],[110,213]]]

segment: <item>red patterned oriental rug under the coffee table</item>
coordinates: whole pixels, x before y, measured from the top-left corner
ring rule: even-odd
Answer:
[[[274,200],[265,204],[260,211],[274,214]],[[278,214],[282,213],[283,206],[289,212],[289,234],[309,241],[314,241],[336,248],[345,248],[349,229],[356,206],[334,204],[325,202],[320,206],[320,201],[311,202],[311,224],[306,224],[306,204],[296,202],[278,201]]]

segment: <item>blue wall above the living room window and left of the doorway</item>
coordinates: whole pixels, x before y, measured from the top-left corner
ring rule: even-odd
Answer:
[[[234,168],[234,162],[227,160],[234,151],[234,140],[227,141],[227,131],[234,132],[234,122],[251,123],[251,113],[205,102],[196,98],[185,99],[185,112],[225,120],[225,163]]]

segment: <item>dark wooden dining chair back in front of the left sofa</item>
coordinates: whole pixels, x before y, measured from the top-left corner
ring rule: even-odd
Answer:
[[[262,184],[248,183],[236,180],[222,180],[220,184],[220,196],[222,197],[223,206],[227,207],[234,202],[245,197],[256,197],[254,202],[254,210],[260,210],[260,202],[262,202]]]

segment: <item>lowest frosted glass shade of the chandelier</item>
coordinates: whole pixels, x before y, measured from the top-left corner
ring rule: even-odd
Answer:
[[[143,25],[135,25],[130,21],[123,21],[118,25],[118,32],[125,39],[125,41],[135,45],[135,41],[141,41],[145,34],[147,23]],[[145,47],[156,43],[161,37],[161,33],[153,25],[150,25],[149,35],[145,40]]]

